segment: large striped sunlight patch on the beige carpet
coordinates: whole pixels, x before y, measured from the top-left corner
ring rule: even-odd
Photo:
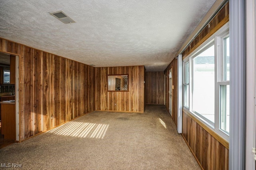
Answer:
[[[48,133],[70,137],[103,139],[108,126],[108,124],[70,121],[48,131]]]

